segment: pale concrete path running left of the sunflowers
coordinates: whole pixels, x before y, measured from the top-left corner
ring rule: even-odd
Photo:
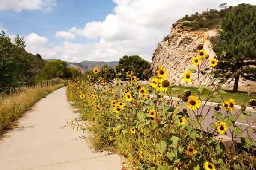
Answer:
[[[37,102],[0,140],[0,170],[121,170],[119,156],[94,152],[86,134],[63,127],[77,117],[65,88]]]

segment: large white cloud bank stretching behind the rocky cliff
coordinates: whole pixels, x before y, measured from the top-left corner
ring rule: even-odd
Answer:
[[[55,33],[56,37],[74,40],[75,35],[93,40],[87,43],[64,41],[50,46],[46,37],[31,33],[25,40],[27,50],[43,58],[61,58],[80,62],[118,61],[123,55],[140,55],[151,61],[154,48],[169,34],[171,26],[185,14],[201,13],[205,9],[218,9],[220,3],[237,5],[252,0],[113,0],[114,14],[103,21],[85,23],[83,28],[72,27]],[[95,42],[96,41],[96,42]]]

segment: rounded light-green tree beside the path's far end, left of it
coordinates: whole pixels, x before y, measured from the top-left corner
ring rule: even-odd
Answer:
[[[68,69],[66,62],[61,60],[48,61],[36,75],[36,81],[49,80],[52,78],[67,78]]]

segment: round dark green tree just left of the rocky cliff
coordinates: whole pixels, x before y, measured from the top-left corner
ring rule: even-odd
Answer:
[[[122,73],[120,76],[122,79],[126,78],[125,72],[132,71],[137,78],[140,78],[141,80],[148,80],[150,74],[143,74],[145,69],[150,69],[150,64],[138,55],[125,55],[119,59],[119,65],[116,66],[116,72]]]

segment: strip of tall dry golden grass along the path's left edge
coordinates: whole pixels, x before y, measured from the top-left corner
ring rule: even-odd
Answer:
[[[36,101],[47,96],[52,91],[63,87],[64,83],[53,86],[36,86],[22,89],[22,92],[0,97],[0,134],[11,129],[17,124],[17,120],[24,112],[29,110]]]

